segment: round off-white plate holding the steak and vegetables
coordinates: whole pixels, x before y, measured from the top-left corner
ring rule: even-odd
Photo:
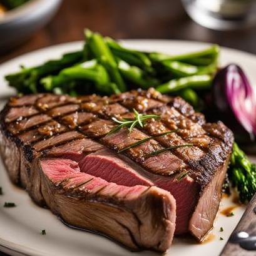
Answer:
[[[160,51],[163,53],[178,54],[186,51],[195,51],[208,46],[205,43],[165,40],[127,40],[126,46],[145,51]],[[58,58],[62,53],[81,49],[81,42],[60,44],[49,48],[24,54],[0,66],[0,98],[9,96],[14,90],[8,88],[4,81],[4,74],[18,71],[19,65],[34,66],[48,59]],[[221,64],[238,63],[248,74],[250,81],[256,83],[256,56],[252,54],[222,48]],[[2,100],[3,103],[3,100]],[[31,202],[27,193],[9,182],[4,166],[0,163],[0,187],[4,195],[0,196],[0,250],[11,255],[40,255],[40,256],[137,256],[159,255],[155,252],[131,253],[111,242],[105,237],[93,233],[82,232],[66,227],[59,222],[49,210],[39,208]],[[17,207],[4,208],[4,202],[15,202]],[[222,200],[220,210],[233,205],[232,198]],[[232,232],[235,225],[242,217],[244,207],[235,208],[233,217],[218,214],[213,228],[215,238],[210,242],[199,245],[182,239],[175,238],[172,247],[165,254],[175,256],[217,256]],[[224,231],[220,232],[220,227]],[[46,235],[40,235],[41,230],[46,230]],[[220,240],[220,237],[223,240]]]

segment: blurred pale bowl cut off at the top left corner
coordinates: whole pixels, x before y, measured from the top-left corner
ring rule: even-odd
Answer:
[[[61,0],[31,0],[0,18],[0,53],[22,43],[53,18]]]

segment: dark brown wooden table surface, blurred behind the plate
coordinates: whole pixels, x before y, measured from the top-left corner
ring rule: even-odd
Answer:
[[[256,54],[256,28],[230,32],[203,28],[188,18],[178,0],[64,0],[48,26],[0,56],[0,63],[35,49],[81,40],[83,28],[118,39],[194,40]]]

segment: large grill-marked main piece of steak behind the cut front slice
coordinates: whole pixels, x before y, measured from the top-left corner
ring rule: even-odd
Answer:
[[[131,133],[122,128],[108,135],[116,126],[111,118],[133,118],[133,108],[160,118]],[[46,183],[38,171],[41,161],[59,158],[75,161],[83,175],[108,183],[170,192],[177,205],[176,234],[190,232],[202,240],[212,228],[233,134],[221,122],[206,123],[181,98],[153,89],[110,97],[31,95],[11,98],[0,118],[1,155],[9,176],[39,205],[48,205],[42,193]],[[142,138],[170,130],[175,132],[118,153]],[[184,143],[193,146],[147,156]]]

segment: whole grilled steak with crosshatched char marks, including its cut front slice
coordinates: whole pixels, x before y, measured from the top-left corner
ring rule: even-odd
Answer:
[[[108,134],[116,126],[111,118],[134,118],[133,109],[160,118],[131,133]],[[193,146],[148,156],[185,143]],[[153,89],[110,97],[15,97],[1,112],[1,155],[11,180],[64,222],[133,249],[165,251],[174,230],[205,237],[232,145],[222,122],[206,123],[181,98]]]

